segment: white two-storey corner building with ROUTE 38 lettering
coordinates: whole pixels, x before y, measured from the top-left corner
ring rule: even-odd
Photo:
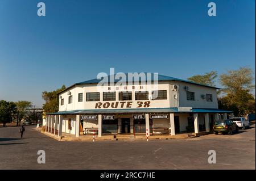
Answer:
[[[102,79],[92,79],[59,92],[59,112],[47,114],[46,132],[76,137],[94,131],[99,137],[199,133],[210,131],[213,120],[232,116],[232,111],[218,109],[216,87],[164,75],[158,75],[157,84],[131,80],[99,86]]]

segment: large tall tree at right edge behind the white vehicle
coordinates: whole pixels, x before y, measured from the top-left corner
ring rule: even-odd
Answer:
[[[255,98],[250,93],[254,89],[252,74],[250,68],[240,68],[220,75],[224,96],[218,98],[219,108],[232,110],[236,116],[255,113]]]

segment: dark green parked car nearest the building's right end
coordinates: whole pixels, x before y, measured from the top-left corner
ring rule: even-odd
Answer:
[[[238,133],[239,129],[236,123],[234,123],[232,120],[229,119],[222,119],[222,120],[216,120],[213,123],[213,132],[215,134],[218,134],[218,132],[221,133],[228,133],[233,134],[233,132],[236,131]]]

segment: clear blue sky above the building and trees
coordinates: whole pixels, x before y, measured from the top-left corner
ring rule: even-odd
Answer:
[[[109,68],[187,79],[240,66],[255,72],[254,0],[0,0],[0,99],[42,107],[42,91]]]

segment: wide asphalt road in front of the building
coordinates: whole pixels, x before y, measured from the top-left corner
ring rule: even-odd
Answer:
[[[255,169],[255,127],[185,140],[56,141],[26,127],[0,128],[0,169]],[[46,163],[37,162],[38,150]],[[216,163],[208,163],[208,151]]]

